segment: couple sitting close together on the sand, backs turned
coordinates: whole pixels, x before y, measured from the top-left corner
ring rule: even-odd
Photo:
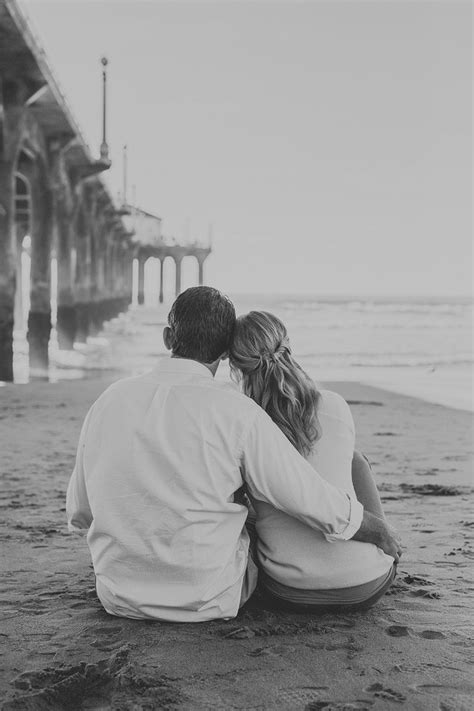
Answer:
[[[373,604],[400,543],[346,402],[318,391],[279,319],[236,319],[216,289],[183,292],[168,324],[171,357],[90,409],[68,487],[69,528],[89,529],[105,610],[232,618],[257,575],[274,606]],[[241,392],[214,379],[227,357]]]

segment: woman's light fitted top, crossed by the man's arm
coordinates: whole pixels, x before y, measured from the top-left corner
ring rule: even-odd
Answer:
[[[331,484],[355,496],[352,456],[355,428],[346,401],[321,391],[318,419],[322,436],[307,457]],[[262,501],[257,512],[258,557],[265,572],[284,585],[326,590],[361,585],[386,574],[393,558],[372,543],[327,541],[322,533]]]

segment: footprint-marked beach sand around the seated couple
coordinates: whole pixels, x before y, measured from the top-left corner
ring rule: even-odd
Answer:
[[[372,610],[275,613],[257,596],[228,622],[142,622],[102,610],[65,524],[80,426],[108,382],[0,388],[4,711],[474,708],[472,415],[329,385],[406,546]]]

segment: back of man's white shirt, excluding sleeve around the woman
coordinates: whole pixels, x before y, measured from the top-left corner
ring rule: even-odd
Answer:
[[[233,617],[247,565],[241,447],[248,398],[193,360],[122,380],[84,423],[68,489],[104,608],[124,617]]]

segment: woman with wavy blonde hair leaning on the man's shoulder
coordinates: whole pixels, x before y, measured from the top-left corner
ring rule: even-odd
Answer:
[[[349,406],[318,391],[291,355],[286,328],[265,311],[237,319],[230,351],[233,376],[327,481],[384,518],[368,461],[354,452]],[[283,607],[363,609],[390,587],[391,556],[370,543],[328,542],[322,533],[269,504],[252,500],[263,590]]]

